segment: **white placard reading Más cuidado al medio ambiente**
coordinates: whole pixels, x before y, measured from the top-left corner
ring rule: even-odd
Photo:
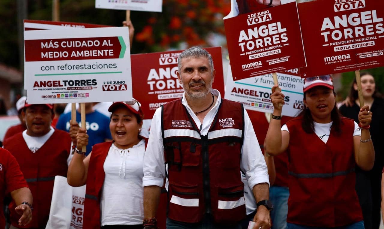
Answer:
[[[24,31],[24,46],[30,103],[132,99],[128,27]]]

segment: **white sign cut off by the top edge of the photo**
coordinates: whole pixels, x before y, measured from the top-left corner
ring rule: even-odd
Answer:
[[[112,10],[162,12],[162,0],[96,0],[95,7]]]

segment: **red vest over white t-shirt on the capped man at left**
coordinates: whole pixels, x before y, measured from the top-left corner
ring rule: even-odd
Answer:
[[[67,176],[70,135],[55,129],[46,143],[36,153],[32,153],[23,134],[18,133],[4,142],[4,148],[16,158],[33,196],[32,221],[27,226],[18,225],[20,215],[15,212],[16,204],[14,201],[9,204],[12,225],[20,228],[45,226],[48,222],[55,176]]]

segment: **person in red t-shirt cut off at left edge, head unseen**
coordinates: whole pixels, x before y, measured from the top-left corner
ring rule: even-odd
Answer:
[[[18,225],[25,226],[32,220],[32,194],[16,159],[8,150],[0,148],[0,206],[6,194],[11,194],[17,205],[15,212],[21,215]],[[0,214],[0,228],[5,228],[4,213]]]

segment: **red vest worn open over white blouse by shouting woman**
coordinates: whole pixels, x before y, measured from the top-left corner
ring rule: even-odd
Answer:
[[[147,146],[148,139],[144,139],[146,141],[145,144]],[[87,174],[87,186],[85,191],[83,214],[84,229],[99,229],[101,227],[100,198],[101,189],[103,187],[105,178],[104,162],[112,143],[112,141],[99,143],[94,145],[92,148],[92,154],[88,166],[89,173]],[[164,202],[164,200],[167,198],[166,192],[162,192],[160,198],[161,202]],[[159,228],[165,228],[166,216],[164,215],[162,217],[162,213],[164,213],[164,211],[164,209],[162,212],[158,211],[159,213],[157,215],[157,218]]]

